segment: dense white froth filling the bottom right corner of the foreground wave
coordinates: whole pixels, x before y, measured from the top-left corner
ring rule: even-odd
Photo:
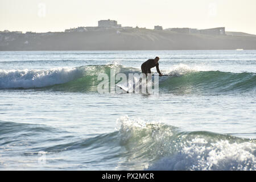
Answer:
[[[181,144],[179,152],[165,156],[148,170],[241,170],[256,169],[256,144],[216,140],[208,146],[204,138]]]

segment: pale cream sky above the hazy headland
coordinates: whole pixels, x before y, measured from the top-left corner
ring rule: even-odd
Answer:
[[[64,31],[98,26],[226,27],[256,34],[255,0],[0,0],[0,31]]]

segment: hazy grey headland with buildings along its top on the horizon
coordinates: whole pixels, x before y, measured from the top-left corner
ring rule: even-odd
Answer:
[[[218,31],[221,31],[222,35],[218,35]],[[225,32],[225,27],[208,30],[192,28],[163,30],[161,26],[155,26],[155,30],[150,30],[121,27],[119,24],[117,27],[71,28],[65,32],[0,32],[0,51],[199,49],[256,49],[256,35]]]

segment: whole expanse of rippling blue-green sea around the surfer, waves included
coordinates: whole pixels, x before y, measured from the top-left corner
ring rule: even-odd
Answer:
[[[159,94],[97,92],[155,56]],[[255,98],[256,51],[0,52],[0,169],[255,170]]]

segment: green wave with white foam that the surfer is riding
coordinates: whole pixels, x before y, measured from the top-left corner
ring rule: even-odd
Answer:
[[[110,76],[115,73],[141,73],[137,68],[122,65],[86,65],[77,68],[54,68],[46,70],[0,70],[0,89],[41,88],[54,91],[97,91],[98,73]],[[187,65],[179,65],[160,77],[159,88],[171,93],[209,92],[255,92],[256,73],[232,73],[221,71],[196,71]]]

